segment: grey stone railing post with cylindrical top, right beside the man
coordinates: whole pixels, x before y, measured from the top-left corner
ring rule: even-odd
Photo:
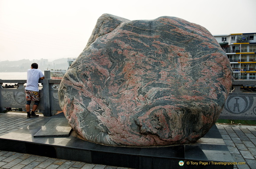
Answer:
[[[43,80],[43,97],[44,97],[44,116],[52,116],[51,112],[51,98],[50,98],[50,85],[49,79],[51,79],[50,71],[44,71],[44,80]]]

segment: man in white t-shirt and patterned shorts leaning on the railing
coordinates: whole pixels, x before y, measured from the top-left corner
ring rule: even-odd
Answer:
[[[38,88],[38,82],[39,79],[44,79],[44,74],[42,71],[40,71],[38,68],[37,63],[32,63],[31,69],[28,69],[27,72],[27,86],[25,88],[26,93],[26,111],[27,111],[27,118],[35,118],[39,115],[35,114],[35,111],[39,105],[39,88]],[[35,101],[32,111],[30,114],[30,104],[31,101]]]

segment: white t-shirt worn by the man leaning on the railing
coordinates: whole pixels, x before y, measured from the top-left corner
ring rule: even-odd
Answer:
[[[39,91],[38,81],[44,74],[39,69],[28,69],[26,90]]]

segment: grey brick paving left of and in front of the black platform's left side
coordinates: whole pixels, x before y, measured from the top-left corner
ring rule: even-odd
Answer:
[[[45,118],[26,118],[26,113],[0,113],[0,136],[8,134]],[[128,169],[99,164],[88,164],[79,161],[68,161],[56,158],[41,157],[31,154],[0,150],[0,169]]]

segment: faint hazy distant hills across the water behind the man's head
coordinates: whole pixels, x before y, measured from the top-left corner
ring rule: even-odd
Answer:
[[[51,69],[66,70],[68,67],[67,61],[68,58],[56,59],[52,62],[48,62],[48,59],[22,59],[17,61],[1,61],[0,72],[26,72],[28,69],[30,69],[32,63],[37,63],[38,69],[40,69],[41,71]]]

